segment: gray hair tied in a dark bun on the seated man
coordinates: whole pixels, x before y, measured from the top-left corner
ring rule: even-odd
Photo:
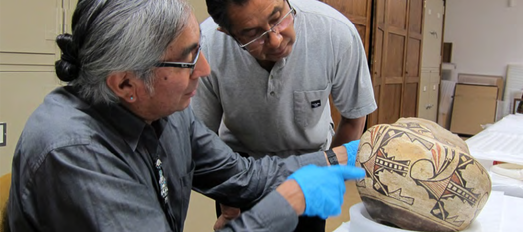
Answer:
[[[95,104],[119,101],[106,84],[114,72],[133,72],[152,94],[154,65],[190,15],[185,0],[79,0],[73,35],[56,38],[56,74]]]

